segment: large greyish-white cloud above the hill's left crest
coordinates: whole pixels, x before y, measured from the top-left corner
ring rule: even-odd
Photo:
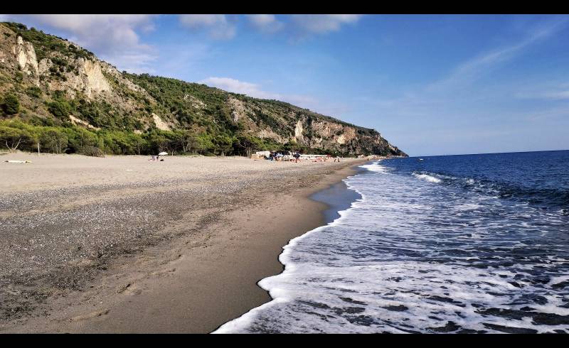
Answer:
[[[120,70],[141,71],[156,59],[151,46],[140,42],[140,31],[154,29],[155,15],[146,14],[30,14],[7,15],[28,26],[61,31],[69,40],[97,52]]]

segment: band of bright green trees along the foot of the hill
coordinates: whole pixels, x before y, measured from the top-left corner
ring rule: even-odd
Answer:
[[[89,130],[69,122],[57,125],[33,116],[0,120],[0,143],[10,151],[83,153],[87,156],[150,155],[161,151],[205,156],[249,156],[253,151],[280,148],[282,145],[252,136],[211,136],[189,130],[151,129],[142,134],[128,131]],[[16,146],[16,144],[18,144]]]

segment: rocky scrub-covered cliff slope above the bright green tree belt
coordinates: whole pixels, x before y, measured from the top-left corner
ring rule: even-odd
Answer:
[[[61,118],[53,111],[60,103],[69,105],[65,121],[87,129],[188,129],[350,155],[405,156],[373,129],[284,102],[119,72],[67,40],[17,23],[0,24],[0,94],[7,93],[18,96],[23,119]]]

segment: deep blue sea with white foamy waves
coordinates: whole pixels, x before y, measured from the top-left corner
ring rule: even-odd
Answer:
[[[216,332],[569,333],[569,151],[391,158]]]

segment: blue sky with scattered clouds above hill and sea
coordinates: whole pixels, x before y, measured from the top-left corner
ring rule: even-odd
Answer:
[[[278,99],[410,156],[569,149],[569,16],[0,15],[119,70]]]

